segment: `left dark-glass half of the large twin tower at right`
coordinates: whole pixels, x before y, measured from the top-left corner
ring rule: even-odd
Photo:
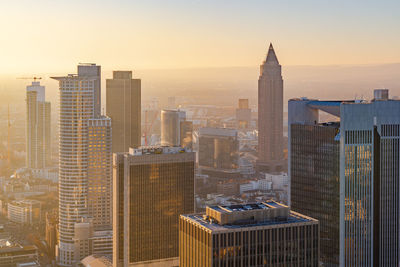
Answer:
[[[339,116],[342,101],[291,99],[289,177],[291,209],[319,221],[321,262],[339,266],[340,122],[319,122],[319,111]]]

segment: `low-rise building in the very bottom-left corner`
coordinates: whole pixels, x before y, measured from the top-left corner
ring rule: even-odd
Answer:
[[[0,267],[39,266],[38,249],[36,246],[9,245],[0,246]],[[37,265],[32,265],[37,264]]]

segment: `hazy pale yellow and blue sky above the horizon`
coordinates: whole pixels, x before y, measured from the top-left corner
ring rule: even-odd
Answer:
[[[0,74],[400,62],[400,1],[0,0]]]

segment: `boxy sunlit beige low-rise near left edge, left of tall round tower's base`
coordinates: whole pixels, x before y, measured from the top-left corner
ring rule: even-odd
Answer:
[[[40,222],[41,204],[37,200],[20,200],[8,203],[8,219],[20,224]]]

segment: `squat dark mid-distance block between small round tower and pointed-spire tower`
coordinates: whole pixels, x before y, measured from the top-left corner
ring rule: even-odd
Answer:
[[[236,129],[200,128],[199,167],[232,170],[238,168],[239,141]]]

